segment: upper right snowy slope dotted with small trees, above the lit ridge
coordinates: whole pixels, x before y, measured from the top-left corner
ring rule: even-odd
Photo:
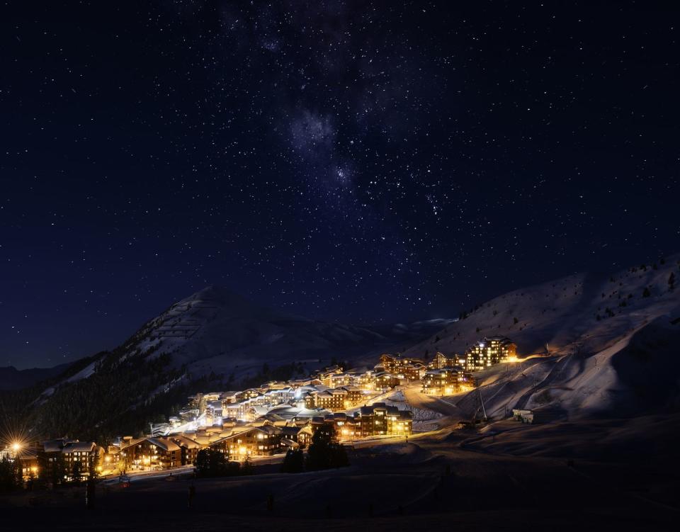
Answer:
[[[671,273],[680,277],[678,260],[673,256],[656,266],[613,275],[583,273],[514,290],[480,305],[407,353],[463,353],[482,336],[496,334],[513,339],[520,356],[543,352],[545,344],[551,353],[599,351],[680,303],[680,285],[669,290],[668,284]]]

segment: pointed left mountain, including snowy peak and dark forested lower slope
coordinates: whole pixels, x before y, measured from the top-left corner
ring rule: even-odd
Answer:
[[[15,396],[13,404],[28,405],[17,417],[29,420],[33,434],[106,441],[165,419],[191,393],[307,375],[332,358],[373,360],[438,327],[439,320],[375,329],[315,321],[209,287],[149,320],[113,351]]]

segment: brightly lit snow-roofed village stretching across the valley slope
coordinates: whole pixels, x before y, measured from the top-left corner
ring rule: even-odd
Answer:
[[[395,390],[415,387],[433,396],[468,392],[476,386],[475,372],[516,360],[516,345],[504,336],[485,337],[462,355],[437,352],[429,363],[385,353],[370,369],[333,366],[308,378],[199,393],[179,415],[149,424],[149,433],[139,438],[119,436],[106,447],[72,438],[13,441],[0,458],[21,463],[27,482],[38,475],[57,480],[56,475],[62,482],[191,467],[206,448],[247,463],[304,450],[324,426],[345,445],[371,438],[407,441],[414,432],[413,412],[392,404]],[[514,415],[526,421],[526,414]]]

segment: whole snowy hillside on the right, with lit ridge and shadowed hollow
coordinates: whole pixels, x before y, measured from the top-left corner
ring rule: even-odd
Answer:
[[[556,409],[570,419],[673,409],[680,406],[680,287],[669,283],[672,274],[680,276],[678,256],[515,290],[409,353],[460,353],[481,336],[509,336],[519,357],[530,358],[476,375],[495,419],[513,408]],[[479,406],[477,392],[455,401],[470,415]]]

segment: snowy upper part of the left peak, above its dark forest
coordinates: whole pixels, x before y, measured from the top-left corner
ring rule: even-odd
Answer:
[[[238,380],[285,363],[310,368],[337,360],[369,361],[384,351],[402,351],[451,320],[361,327],[290,315],[256,305],[217,286],[190,295],[147,322],[119,348],[122,358],[171,355],[191,375],[214,372]],[[320,359],[320,361],[319,361]],[[84,378],[95,364],[74,378]]]

